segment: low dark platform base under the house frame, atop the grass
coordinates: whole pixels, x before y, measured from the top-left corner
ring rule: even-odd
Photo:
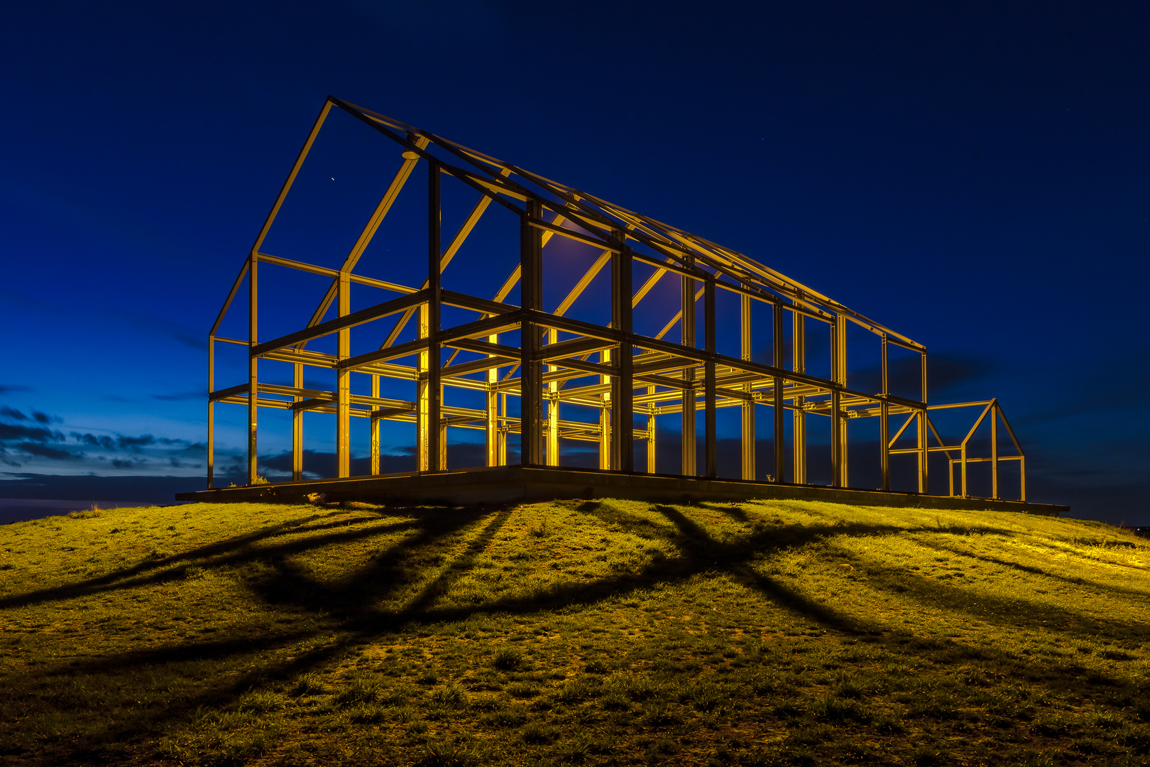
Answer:
[[[949,498],[908,492],[775,484],[749,480],[700,480],[667,475],[524,468],[521,466],[217,488],[177,493],[176,500],[306,503],[307,496],[310,493],[323,493],[328,501],[361,500],[389,504],[520,503],[559,498],[628,498],[669,503],[785,498],[866,506],[996,509],[1048,516],[1059,516],[1070,512],[1068,506],[1028,504],[1017,500]]]

